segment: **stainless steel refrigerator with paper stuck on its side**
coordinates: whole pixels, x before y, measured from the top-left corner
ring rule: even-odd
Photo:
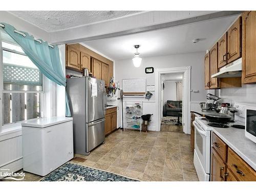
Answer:
[[[89,155],[105,141],[105,82],[92,77],[70,78],[66,90],[73,117],[74,151]]]

